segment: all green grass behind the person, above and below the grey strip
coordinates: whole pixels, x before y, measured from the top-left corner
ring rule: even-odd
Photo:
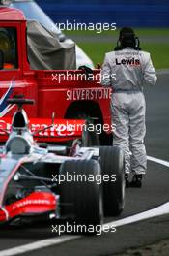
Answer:
[[[152,55],[152,60],[155,65],[155,69],[167,69],[169,68],[169,40],[165,42],[163,37],[169,39],[169,28],[135,28],[135,33],[139,37],[154,37],[161,38],[161,42],[150,42],[143,43],[141,42],[141,48],[145,51],[149,51]],[[76,43],[82,48],[94,61],[94,64],[102,63],[105,52],[111,51],[115,47],[115,38],[118,38],[119,30],[115,31],[104,31],[102,33],[96,33],[96,31],[64,31],[69,36],[82,36],[82,40],[79,39],[79,42]],[[108,42],[98,41],[99,37],[103,38],[104,36],[112,35],[112,43],[110,40]],[[88,41],[88,36],[95,36],[95,42]],[[85,37],[85,42],[83,41]],[[163,40],[163,41],[162,41]]]

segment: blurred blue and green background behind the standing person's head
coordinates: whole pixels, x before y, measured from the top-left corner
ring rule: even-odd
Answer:
[[[118,39],[119,29],[131,26],[140,38],[141,48],[150,51],[156,69],[169,68],[168,0],[37,0],[55,23],[116,23],[116,31],[63,31],[82,48],[94,64],[101,63]]]

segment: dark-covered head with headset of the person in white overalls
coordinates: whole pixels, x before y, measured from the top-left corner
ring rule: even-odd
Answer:
[[[119,40],[114,50],[123,48],[133,48],[141,50],[138,37],[135,36],[134,30],[130,27],[123,27],[119,33]]]

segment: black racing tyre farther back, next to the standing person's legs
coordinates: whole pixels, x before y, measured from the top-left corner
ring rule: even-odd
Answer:
[[[102,177],[104,177],[104,215],[117,216],[122,212],[125,204],[124,153],[123,150],[118,146],[100,146],[99,156]]]

